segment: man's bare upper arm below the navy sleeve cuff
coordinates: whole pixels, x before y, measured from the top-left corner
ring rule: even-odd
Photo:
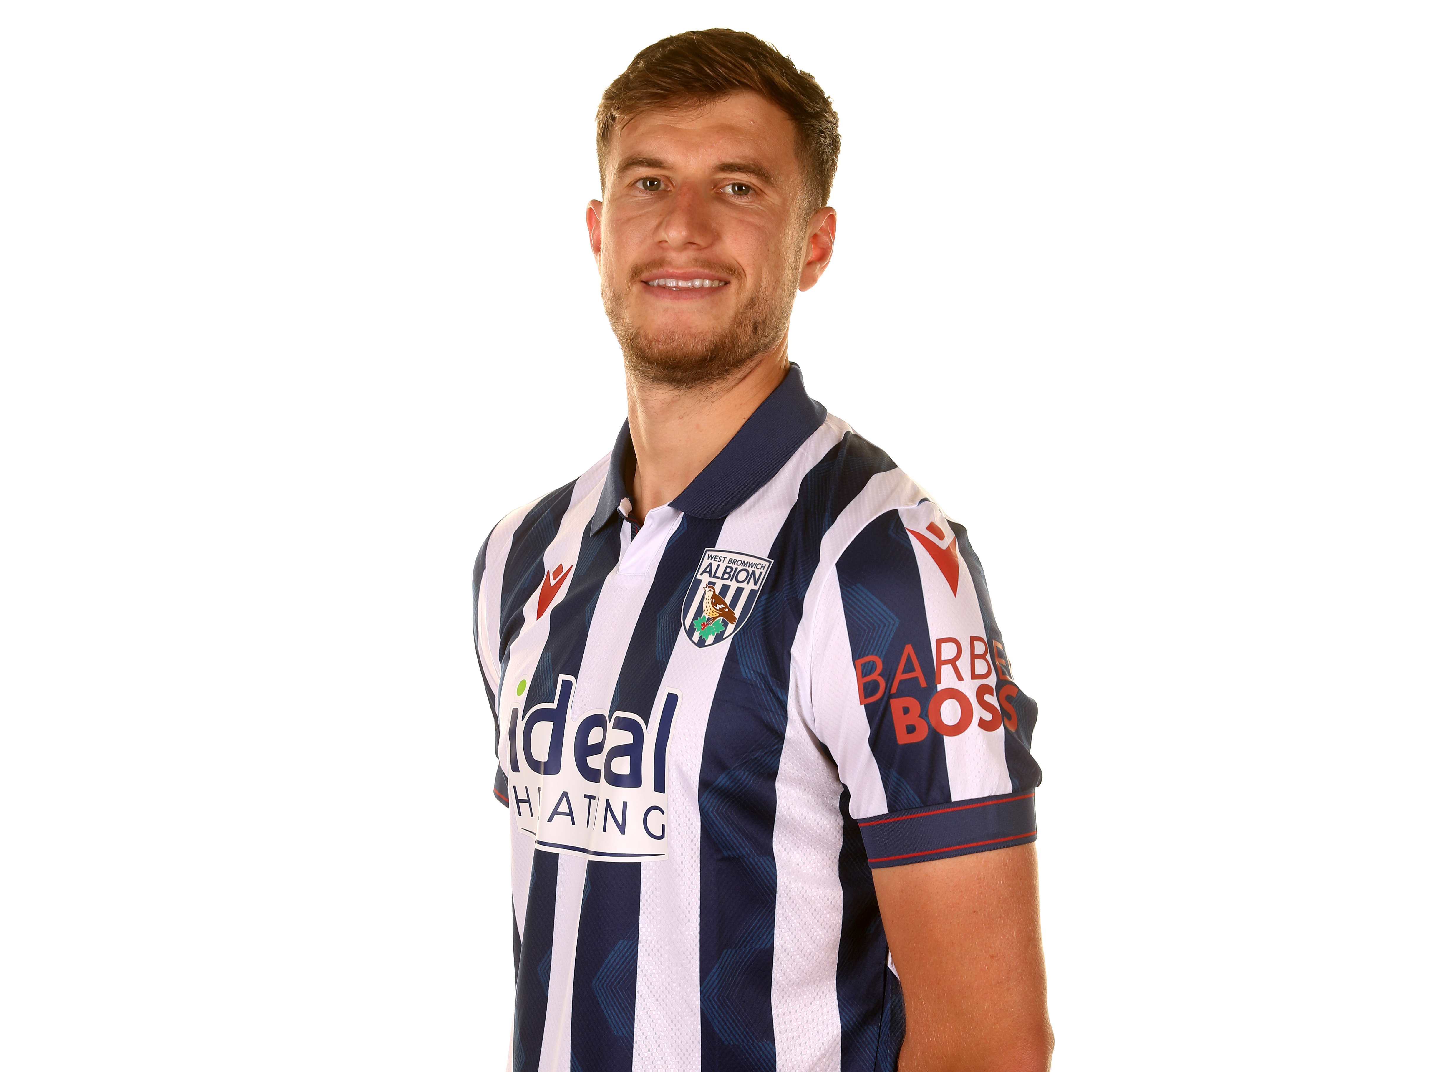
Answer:
[[[1043,1072],[1052,1062],[1036,846],[879,868],[903,983],[899,1072]]]

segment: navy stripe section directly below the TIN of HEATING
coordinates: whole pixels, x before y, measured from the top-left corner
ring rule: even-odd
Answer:
[[[629,1072],[639,941],[640,865],[592,860],[586,865],[570,999],[573,1068]]]

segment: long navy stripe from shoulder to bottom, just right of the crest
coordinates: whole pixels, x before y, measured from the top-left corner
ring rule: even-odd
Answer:
[[[700,1048],[703,1068],[773,1072],[775,776],[789,659],[819,545],[849,502],[893,463],[845,436],[803,477],[769,552],[769,577],[729,643],[700,763]],[[739,550],[739,547],[730,547]]]

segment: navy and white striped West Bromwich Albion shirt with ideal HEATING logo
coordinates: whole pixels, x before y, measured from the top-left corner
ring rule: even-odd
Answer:
[[[629,426],[476,560],[516,1072],[892,1069],[872,868],[1036,838],[1036,705],[962,526],[797,366],[674,502]]]

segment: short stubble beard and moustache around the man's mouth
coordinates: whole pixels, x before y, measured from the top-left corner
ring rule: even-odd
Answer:
[[[640,276],[654,267],[659,266],[637,266],[627,277],[626,287],[614,293],[610,287],[602,287],[606,317],[624,354],[626,373],[637,383],[680,389],[723,383],[747,370],[789,330],[795,294],[799,292],[797,263],[790,264],[783,279],[749,294],[726,327],[713,333],[687,330],[656,333],[630,323],[627,287],[646,286],[640,282]],[[730,264],[703,263],[694,267],[730,277],[730,286],[745,277]]]

